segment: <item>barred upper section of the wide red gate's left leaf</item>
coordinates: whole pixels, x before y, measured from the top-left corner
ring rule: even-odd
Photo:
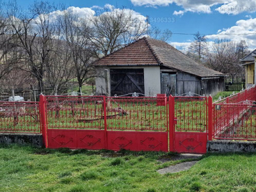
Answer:
[[[103,97],[46,96],[49,129],[104,129]]]

